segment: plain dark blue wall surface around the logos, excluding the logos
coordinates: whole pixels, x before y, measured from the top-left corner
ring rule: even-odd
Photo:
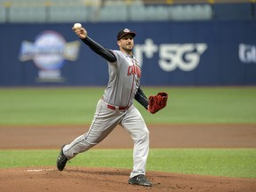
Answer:
[[[192,71],[176,68],[166,72],[158,65],[159,52],[151,59],[143,58],[141,84],[144,85],[255,85],[256,63],[239,60],[239,44],[256,45],[255,20],[212,20],[189,22],[109,22],[82,23],[89,36],[109,49],[118,49],[116,32],[120,28],[136,31],[135,44],[150,38],[159,44],[207,44],[200,63]],[[61,83],[37,82],[38,68],[33,60],[20,61],[22,41],[35,42],[44,30],[59,32],[67,42],[77,40],[72,23],[62,24],[1,24],[0,25],[0,86],[31,85],[105,85],[108,65],[99,55],[81,44],[78,59],[65,60],[60,68],[65,78]]]

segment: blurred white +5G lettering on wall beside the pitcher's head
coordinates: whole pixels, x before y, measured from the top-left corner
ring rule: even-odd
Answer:
[[[173,71],[180,68],[183,71],[194,70],[201,55],[207,49],[207,44],[160,44],[157,46],[152,39],[146,39],[145,44],[137,44],[134,54],[142,64],[143,53],[146,58],[152,58],[154,53],[159,52],[159,67],[164,71]]]

